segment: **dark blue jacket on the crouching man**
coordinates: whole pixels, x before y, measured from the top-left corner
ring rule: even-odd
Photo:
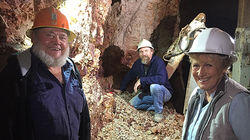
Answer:
[[[171,94],[173,93],[173,89],[168,81],[166,64],[156,55],[152,57],[147,73],[145,73],[144,64],[141,63],[141,59],[137,59],[130,71],[125,75],[120,90],[125,91],[128,83],[137,78],[140,78],[143,92],[150,93],[150,85],[159,84],[164,85]]]

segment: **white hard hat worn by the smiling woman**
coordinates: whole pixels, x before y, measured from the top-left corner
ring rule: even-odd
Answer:
[[[188,54],[192,53],[214,53],[223,54],[237,60],[233,38],[218,28],[206,28],[195,38]]]

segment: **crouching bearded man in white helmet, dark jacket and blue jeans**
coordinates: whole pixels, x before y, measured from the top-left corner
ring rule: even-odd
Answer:
[[[154,121],[160,122],[163,119],[163,105],[173,93],[166,65],[154,55],[154,47],[146,39],[138,44],[137,51],[140,58],[124,77],[119,92],[125,91],[130,82],[137,80],[134,85],[137,95],[130,100],[130,104],[136,109],[153,110]]]

